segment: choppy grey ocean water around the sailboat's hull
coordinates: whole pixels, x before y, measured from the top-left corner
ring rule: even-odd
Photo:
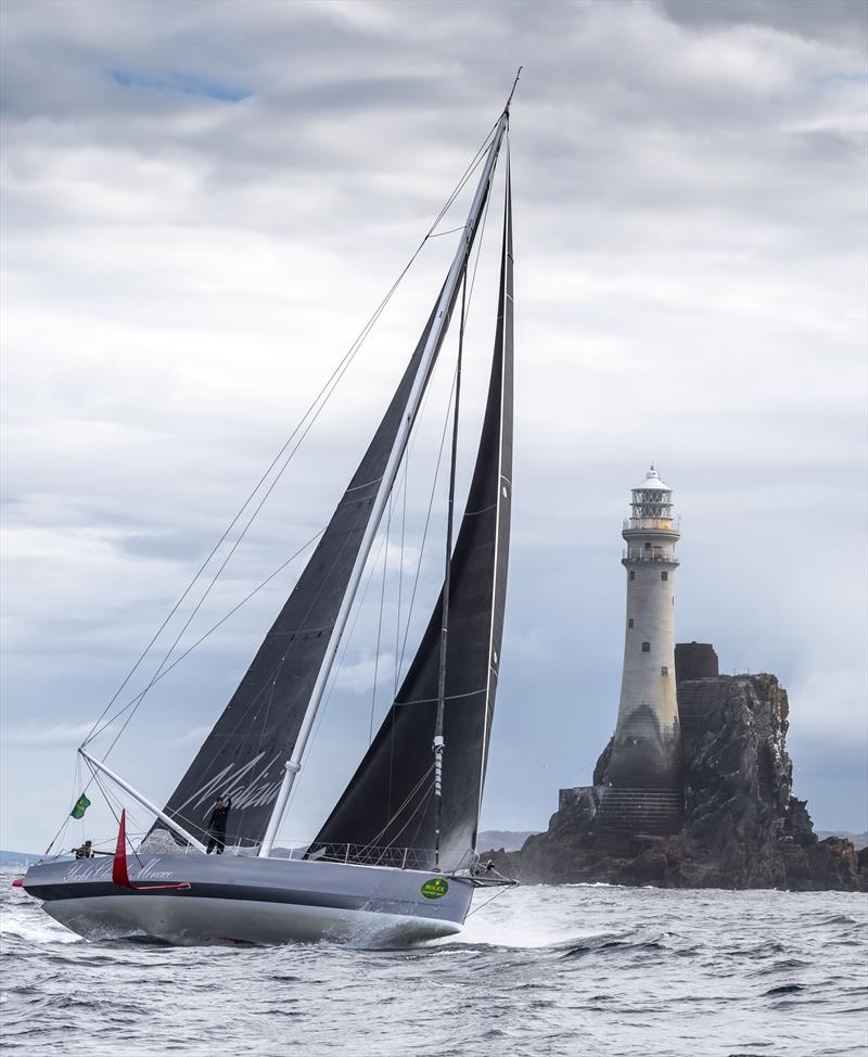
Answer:
[[[86,943],[0,870],[26,1057],[868,1054],[865,895],[520,888],[424,946]]]

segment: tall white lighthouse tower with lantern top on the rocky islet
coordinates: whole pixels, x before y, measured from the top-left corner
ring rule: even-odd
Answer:
[[[621,703],[598,829],[674,832],[682,805],[675,691],[675,545],[672,488],[652,466],[633,489],[622,533],[627,613]]]

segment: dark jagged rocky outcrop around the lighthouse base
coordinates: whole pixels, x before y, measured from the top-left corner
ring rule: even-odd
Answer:
[[[789,703],[774,675],[679,683],[684,826],[671,837],[601,832],[611,742],[593,785],[561,790],[548,831],[520,852],[487,853],[529,882],[608,881],[667,888],[868,890],[868,855],[814,833],[792,788]]]

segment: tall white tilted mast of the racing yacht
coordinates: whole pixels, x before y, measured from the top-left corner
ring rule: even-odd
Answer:
[[[395,477],[397,476],[400,460],[404,456],[404,449],[410,435],[410,430],[412,429],[413,422],[416,421],[416,416],[419,411],[419,405],[421,404],[422,396],[424,394],[427,374],[449,326],[450,306],[454,304],[455,296],[458,291],[458,284],[461,281],[464,269],[467,268],[468,257],[473,244],[473,238],[477,229],[483,206],[485,205],[488,196],[488,190],[492,183],[495,165],[500,152],[500,144],[503,140],[503,135],[508,125],[509,109],[507,107],[501,114],[500,120],[497,124],[494,139],[492,140],[492,145],[488,150],[488,155],[485,160],[482,175],[480,176],[480,182],[476,187],[476,193],[473,196],[473,202],[468,214],[467,222],[464,224],[464,228],[461,232],[458,247],[456,250],[455,257],[452,258],[446,282],[444,283],[443,291],[441,292],[439,301],[434,313],[434,323],[429,333],[427,342],[425,343],[425,348],[422,353],[421,362],[419,365],[419,371],[416,380],[413,381],[410,395],[407,399],[401,426],[395,437],[395,443],[393,444],[388,462],[386,463],[386,468],[380,481],[380,487],[378,488],[376,496],[373,500],[371,517],[368,521],[365,536],[362,537],[361,545],[356,556],[356,561],[347,584],[347,589],[344,594],[341,608],[337,612],[337,616],[329,638],[329,645],[326,648],[326,654],[323,657],[322,665],[320,666],[314,690],[310,695],[307,712],[302,721],[298,736],[295,739],[292,755],[284,765],[283,780],[281,781],[280,792],[278,793],[275,802],[275,807],[271,812],[271,817],[269,818],[268,827],[266,829],[265,837],[263,838],[263,843],[259,848],[259,855],[261,857],[266,857],[271,853],[271,849],[275,844],[275,838],[277,837],[278,829],[283,818],[283,813],[286,810],[290,793],[292,792],[293,785],[295,784],[296,775],[302,769],[302,757],[304,756],[308,739],[310,738],[310,734],[314,729],[314,723],[322,701],[322,696],[326,691],[326,685],[329,680],[332,665],[337,657],[341,637],[343,636],[346,622],[349,617],[349,611],[353,607],[356,591],[358,590],[361,582],[368,555],[373,546],[376,532],[380,527],[380,520],[383,517],[386,501],[388,500],[390,493],[392,492],[392,487],[395,483]]]

